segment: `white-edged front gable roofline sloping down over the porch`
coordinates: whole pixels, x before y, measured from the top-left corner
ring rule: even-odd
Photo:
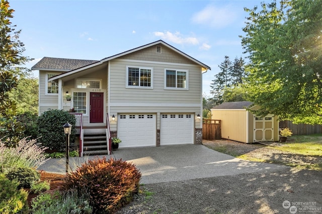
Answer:
[[[200,61],[196,60],[195,58],[193,58],[193,57],[189,56],[188,54],[185,54],[184,52],[182,52],[182,51],[178,50],[177,48],[175,48],[175,47],[173,47],[173,46],[171,46],[171,45],[169,45],[168,43],[166,43],[166,42],[164,42],[164,41],[162,41],[162,40],[158,40],[158,41],[156,41],[156,42],[152,42],[152,43],[149,43],[149,44],[146,44],[146,45],[143,45],[143,46],[140,46],[140,47],[137,47],[137,48],[134,48],[134,49],[131,49],[131,50],[128,50],[128,51],[125,51],[125,52],[122,52],[122,53],[119,53],[119,54],[116,54],[116,55],[113,55],[113,56],[107,57],[107,58],[104,58],[104,59],[102,59],[102,60],[100,60],[100,61],[96,61],[96,62],[94,62],[94,63],[92,63],[92,64],[88,64],[88,65],[85,65],[85,66],[83,66],[83,67],[79,67],[79,68],[75,68],[75,69],[73,69],[73,70],[69,70],[69,71],[68,71],[68,72],[66,72],[66,73],[62,73],[62,74],[56,75],[56,76],[54,76],[54,77],[52,77],[52,78],[50,78],[50,79],[48,79],[48,80],[49,80],[49,81],[56,80],[56,79],[59,79],[59,78],[62,78],[62,77],[68,76],[68,75],[70,75],[70,74],[77,73],[78,71],[82,71],[82,70],[84,70],[84,69],[87,69],[87,68],[91,68],[91,67],[94,67],[94,66],[100,65],[100,64],[102,64],[102,63],[104,63],[104,62],[108,62],[108,61],[110,61],[110,60],[112,60],[112,59],[116,59],[116,58],[118,58],[118,57],[121,57],[121,56],[124,56],[124,55],[130,54],[130,53],[133,53],[133,52],[136,52],[136,51],[142,50],[142,49],[144,49],[144,48],[148,48],[148,47],[151,47],[151,46],[154,46],[154,45],[158,45],[158,44],[163,44],[164,46],[166,46],[166,47],[168,47],[168,48],[172,49],[173,51],[175,51],[175,52],[179,53],[180,55],[182,55],[182,56],[184,56],[184,57],[186,57],[186,58],[188,58],[188,59],[192,60],[192,61],[193,61],[193,62],[195,62],[196,64],[200,65],[200,66],[203,68],[203,70],[204,70],[204,71],[207,71],[207,69],[211,70],[211,68],[210,68],[208,65],[206,65],[206,64],[204,64],[204,63],[202,63],[202,62],[200,62]],[[33,67],[34,67],[34,66],[33,66]]]

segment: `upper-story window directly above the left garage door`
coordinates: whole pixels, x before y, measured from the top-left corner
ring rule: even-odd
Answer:
[[[126,87],[153,87],[153,68],[127,66],[126,70]]]

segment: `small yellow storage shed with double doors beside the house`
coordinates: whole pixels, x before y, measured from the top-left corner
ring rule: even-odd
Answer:
[[[211,109],[211,119],[221,120],[222,138],[243,143],[278,141],[278,117],[257,117],[247,110],[252,105],[250,101],[223,102]]]

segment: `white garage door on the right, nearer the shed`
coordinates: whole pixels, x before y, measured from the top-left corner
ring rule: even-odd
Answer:
[[[193,114],[161,114],[160,145],[193,144]]]

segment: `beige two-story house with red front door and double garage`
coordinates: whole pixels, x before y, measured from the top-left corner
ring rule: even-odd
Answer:
[[[106,128],[119,148],[202,142],[202,74],[210,67],[162,40],[99,61],[44,57],[32,69],[39,115],[73,109],[82,117],[80,144]]]

